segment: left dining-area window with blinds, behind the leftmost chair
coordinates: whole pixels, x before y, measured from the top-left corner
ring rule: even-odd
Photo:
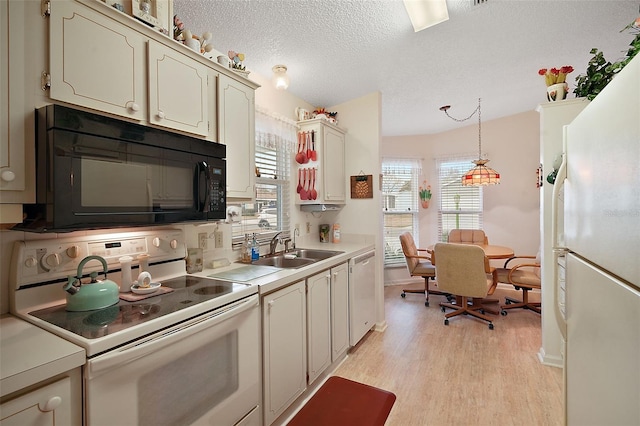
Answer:
[[[418,233],[418,177],[420,161],[383,159],[382,211],[384,216],[384,264],[404,264],[399,236]]]

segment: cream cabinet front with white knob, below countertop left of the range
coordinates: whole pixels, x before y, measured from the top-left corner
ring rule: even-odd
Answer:
[[[0,426],[72,424],[71,380],[68,377],[0,405]]]

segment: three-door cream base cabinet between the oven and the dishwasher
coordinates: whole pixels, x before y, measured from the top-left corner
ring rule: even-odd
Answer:
[[[347,263],[262,297],[264,424],[349,348]]]

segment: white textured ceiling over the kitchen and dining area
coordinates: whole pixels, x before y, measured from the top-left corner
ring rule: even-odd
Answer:
[[[312,105],[380,91],[383,136],[459,127],[439,107],[466,118],[478,98],[483,121],[532,111],[546,102],[538,69],[572,65],[573,90],[591,48],[624,55],[633,36],[620,30],[640,14],[639,0],[447,4],[449,20],[418,33],[402,0],[174,0],[174,13],[213,33],[216,50],[244,53],[252,72],[285,64],[289,91]]]

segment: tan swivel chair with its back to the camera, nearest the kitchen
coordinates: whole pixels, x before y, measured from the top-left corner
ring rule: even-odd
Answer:
[[[482,248],[467,244],[438,243],[431,257],[438,275],[440,290],[456,296],[456,303],[440,303],[442,312],[446,308],[454,309],[445,314],[444,324],[449,318],[458,315],[471,315],[489,323],[493,330],[493,320],[485,312],[497,315],[483,303],[484,298],[497,286],[495,268],[489,265],[489,259]],[[471,303],[469,303],[471,300]]]

